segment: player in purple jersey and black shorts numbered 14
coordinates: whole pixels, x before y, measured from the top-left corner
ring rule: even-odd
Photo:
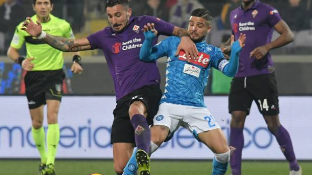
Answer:
[[[279,121],[277,84],[269,53],[271,49],[292,42],[293,34],[276,9],[258,0],[242,0],[242,6],[230,13],[230,22],[236,40],[241,33],[248,38],[240,54],[239,70],[231,82],[228,99],[232,174],[241,175],[243,129],[253,100],[289,162],[289,174],[302,174],[289,133]],[[280,36],[271,42],[273,30]]]

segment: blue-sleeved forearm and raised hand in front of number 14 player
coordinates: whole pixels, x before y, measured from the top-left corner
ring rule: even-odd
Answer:
[[[241,34],[239,39],[234,42],[234,36],[231,36],[231,56],[227,65],[223,68],[223,74],[228,77],[234,77],[239,69],[239,57],[242,48],[245,46],[246,35]]]

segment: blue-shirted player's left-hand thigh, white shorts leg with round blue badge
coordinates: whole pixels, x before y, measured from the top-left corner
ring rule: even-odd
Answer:
[[[174,132],[179,128],[179,122],[185,115],[185,106],[177,105],[172,103],[162,103],[159,106],[159,110],[153,119],[153,128],[154,126],[159,126],[159,128],[155,127],[155,129],[163,130],[161,134],[154,134],[154,141],[157,141],[157,137],[160,139],[160,142],[169,141]],[[168,128],[168,132],[164,129]],[[151,130],[152,132],[152,130]],[[167,133],[167,135],[165,135]],[[153,133],[152,133],[153,134]],[[165,139],[164,139],[165,138]],[[151,138],[153,140],[153,138]],[[164,140],[163,140],[164,139]]]

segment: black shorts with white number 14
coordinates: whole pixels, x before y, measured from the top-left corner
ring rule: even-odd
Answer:
[[[275,74],[262,74],[232,79],[228,97],[228,110],[250,112],[253,100],[262,115],[279,114],[278,91]]]

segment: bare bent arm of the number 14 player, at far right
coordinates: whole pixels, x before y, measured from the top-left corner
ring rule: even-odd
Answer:
[[[288,25],[283,21],[279,21],[275,26],[274,29],[280,34],[280,36],[268,43],[264,46],[257,47],[250,53],[250,57],[255,57],[257,60],[264,57],[271,49],[279,48],[282,46],[291,43],[294,39],[293,33],[291,32]]]

